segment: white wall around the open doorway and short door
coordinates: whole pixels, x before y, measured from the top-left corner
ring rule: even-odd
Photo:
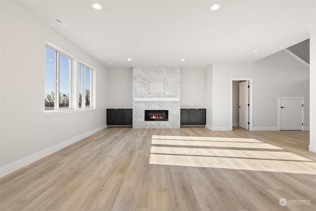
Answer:
[[[253,130],[278,129],[279,96],[305,97],[309,127],[309,68],[285,51],[252,64],[213,64],[213,129],[230,129],[230,78],[253,78]]]

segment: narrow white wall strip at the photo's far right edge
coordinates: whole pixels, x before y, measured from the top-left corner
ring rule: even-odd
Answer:
[[[316,29],[310,33],[310,147],[316,153]]]

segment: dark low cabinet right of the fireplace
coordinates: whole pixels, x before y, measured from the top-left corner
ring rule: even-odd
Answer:
[[[190,108],[181,109],[180,125],[203,126],[206,124],[206,109]]]

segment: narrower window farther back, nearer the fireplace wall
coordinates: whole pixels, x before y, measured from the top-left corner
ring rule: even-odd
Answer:
[[[79,63],[79,108],[91,108],[91,75],[90,68]]]

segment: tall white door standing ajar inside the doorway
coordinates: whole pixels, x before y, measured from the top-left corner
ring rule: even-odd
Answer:
[[[249,129],[249,81],[239,83],[239,127]]]

